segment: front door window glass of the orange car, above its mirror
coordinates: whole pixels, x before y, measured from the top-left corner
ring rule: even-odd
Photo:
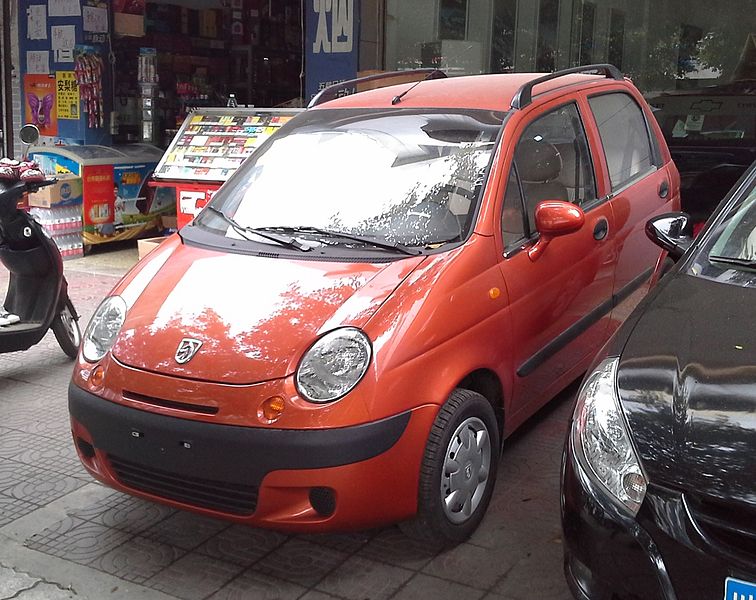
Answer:
[[[577,106],[567,104],[528,125],[515,150],[528,223],[543,200],[584,205],[596,199],[588,143]]]

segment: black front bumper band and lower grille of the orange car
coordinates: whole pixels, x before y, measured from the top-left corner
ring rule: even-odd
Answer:
[[[396,444],[411,416],[405,412],[333,429],[240,427],[138,410],[104,400],[73,383],[68,407],[73,420],[91,438],[84,445],[77,440],[80,451],[90,444],[93,453],[106,456],[124,485],[235,514],[254,512],[257,489],[268,473],[368,460]],[[190,489],[201,492],[187,497]],[[220,505],[217,499],[210,503],[209,498],[217,498],[221,490],[227,504]]]

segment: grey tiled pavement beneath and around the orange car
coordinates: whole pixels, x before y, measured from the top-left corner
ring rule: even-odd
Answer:
[[[122,263],[107,256],[66,263],[83,323]],[[5,285],[0,272],[0,293]],[[574,389],[508,440],[482,525],[469,542],[441,550],[396,527],[291,536],[105,488],[79,465],[70,440],[70,370],[52,334],[26,352],[0,355],[0,599],[571,597],[558,484]]]

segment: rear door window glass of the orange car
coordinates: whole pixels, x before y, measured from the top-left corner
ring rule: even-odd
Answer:
[[[588,99],[606,153],[612,190],[654,167],[643,111],[632,96],[618,92]]]

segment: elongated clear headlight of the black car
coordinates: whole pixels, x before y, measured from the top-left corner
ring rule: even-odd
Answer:
[[[638,461],[617,397],[617,363],[608,358],[585,380],[572,422],[572,444],[583,469],[609,498],[633,516],[646,495],[647,480]]]

